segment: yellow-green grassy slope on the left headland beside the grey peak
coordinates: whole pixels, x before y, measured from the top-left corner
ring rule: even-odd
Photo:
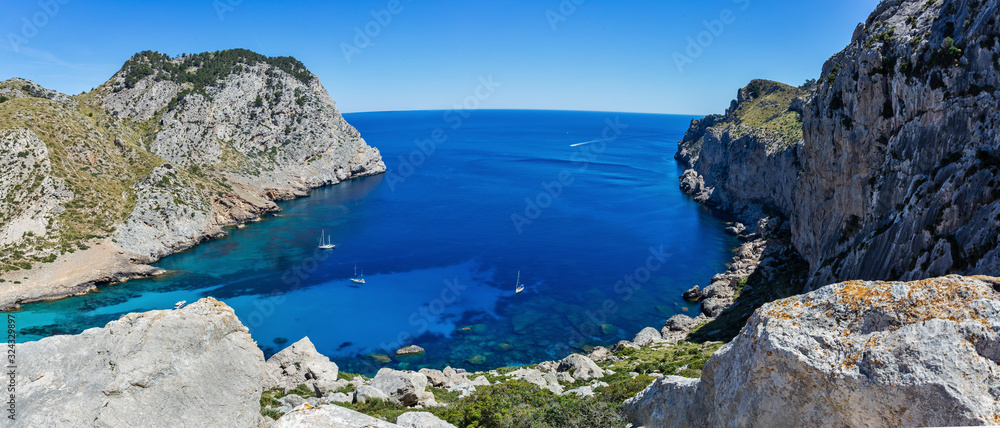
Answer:
[[[142,149],[139,133],[121,126],[86,98],[68,103],[33,96],[12,98],[0,104],[0,131],[17,129],[29,130],[45,143],[51,172],[39,164],[17,166],[31,175],[33,184],[7,194],[0,223],[14,221],[28,200],[52,197],[51,188],[44,190],[42,185],[50,175],[61,182],[56,186],[72,193],[72,200],[63,205],[64,211],[53,213],[44,235],[29,232],[20,242],[0,247],[3,271],[51,262],[56,255],[85,249],[85,241],[91,238],[109,235],[135,207],[132,184],[163,163]]]

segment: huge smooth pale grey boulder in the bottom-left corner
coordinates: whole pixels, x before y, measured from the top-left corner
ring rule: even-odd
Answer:
[[[17,346],[12,427],[256,426],[264,354],[201,299]],[[9,421],[9,420],[8,420]]]

